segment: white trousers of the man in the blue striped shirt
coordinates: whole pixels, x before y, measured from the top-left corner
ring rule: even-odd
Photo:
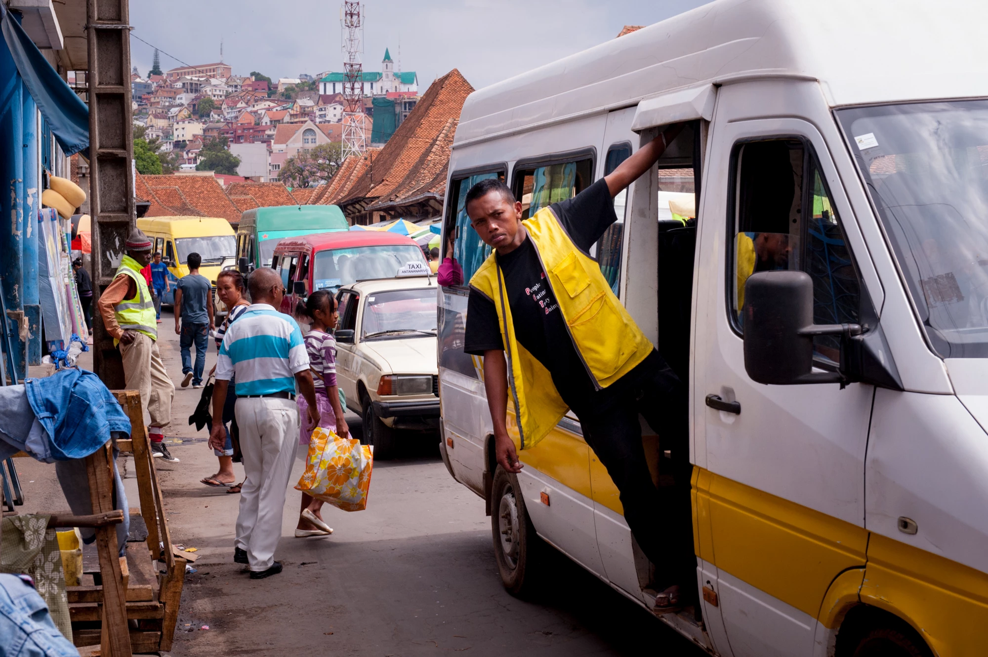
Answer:
[[[298,406],[278,398],[239,398],[236,404],[246,478],[234,545],[247,550],[251,570],[275,562],[282,512],[298,444]]]

